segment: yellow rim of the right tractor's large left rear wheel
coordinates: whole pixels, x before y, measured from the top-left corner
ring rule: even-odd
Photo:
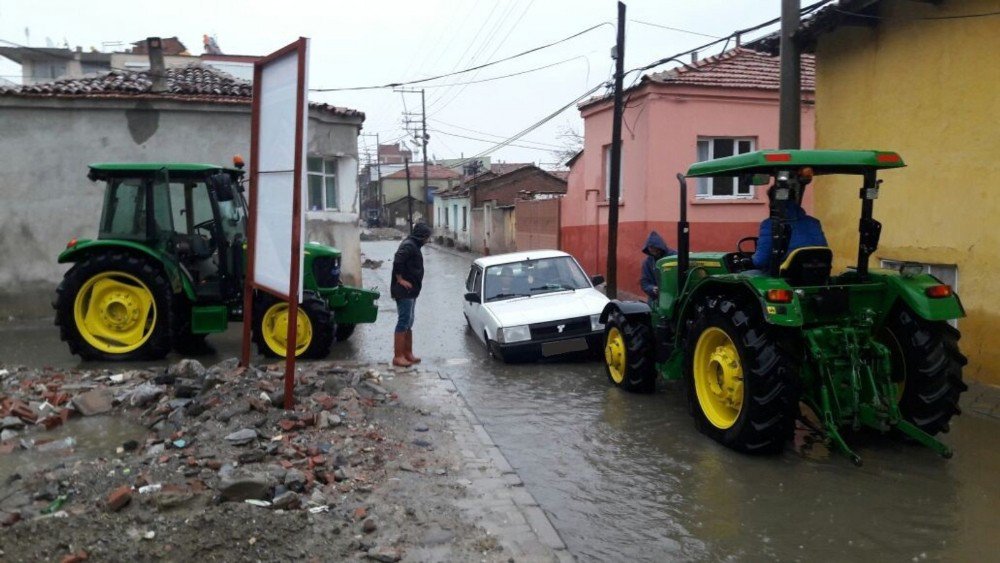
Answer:
[[[705,418],[725,430],[736,423],[743,408],[743,366],[732,338],[710,327],[694,348],[694,389]]]

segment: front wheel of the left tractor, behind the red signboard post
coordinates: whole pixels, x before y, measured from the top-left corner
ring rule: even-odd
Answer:
[[[295,356],[325,358],[333,344],[333,314],[322,299],[306,294],[299,305]],[[254,305],[253,340],[267,357],[284,358],[288,346],[288,303],[261,294]]]

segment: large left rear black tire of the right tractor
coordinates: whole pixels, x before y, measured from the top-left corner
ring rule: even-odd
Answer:
[[[719,334],[713,329],[721,330],[728,336],[732,348],[727,348],[727,345],[722,348],[727,349],[724,353],[730,356],[714,355],[712,362],[703,363],[699,371],[695,362],[704,362],[704,359],[700,354],[696,358],[696,352],[700,352],[697,347],[699,342],[711,346],[711,338]],[[779,329],[764,321],[757,303],[716,295],[701,298],[695,304],[694,312],[686,323],[684,378],[698,430],[740,452],[777,453],[784,448],[795,429],[800,390],[795,361],[780,340]],[[716,407],[719,410],[713,412],[724,413],[724,422],[717,424],[706,413],[706,409],[711,410],[710,405],[713,404],[711,395],[708,395],[709,388],[701,386],[705,395],[700,398],[695,378],[699,374],[711,376],[713,369],[716,377],[722,377],[725,370],[718,359],[734,359],[731,357],[733,350],[742,373],[741,392],[733,393],[741,395],[740,406],[738,413]],[[718,354],[719,348],[714,351]],[[734,419],[727,420],[727,414],[735,415]]]

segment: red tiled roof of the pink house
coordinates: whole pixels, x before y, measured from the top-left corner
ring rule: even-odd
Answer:
[[[816,89],[815,60],[812,55],[802,55],[802,90]],[[706,86],[714,88],[749,88],[778,90],[781,86],[781,61],[749,49],[733,49],[702,59],[692,65],[680,66],[643,77],[643,81],[679,86]]]

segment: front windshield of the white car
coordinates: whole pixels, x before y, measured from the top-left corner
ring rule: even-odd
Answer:
[[[524,260],[486,268],[484,301],[500,301],[590,287],[590,280],[569,256]]]

